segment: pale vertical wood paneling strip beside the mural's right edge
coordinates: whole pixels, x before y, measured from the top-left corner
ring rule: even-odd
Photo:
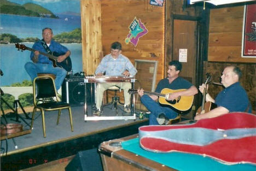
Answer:
[[[83,70],[94,74],[102,53],[101,1],[81,0]]]

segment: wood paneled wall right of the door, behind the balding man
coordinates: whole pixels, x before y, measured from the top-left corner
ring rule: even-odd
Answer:
[[[256,58],[241,57],[244,5],[210,10],[208,62],[204,73],[210,72],[214,81],[219,81],[223,69],[228,65],[238,66],[243,73],[241,85],[247,91],[253,110],[256,110]],[[205,74],[203,74],[205,75]],[[222,87],[211,85],[216,97]]]

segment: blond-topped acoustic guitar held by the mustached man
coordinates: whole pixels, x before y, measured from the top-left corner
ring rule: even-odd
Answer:
[[[179,91],[184,91],[187,89],[178,89],[178,90],[172,90],[172,89],[162,89],[161,93],[156,93],[156,92],[149,92],[149,91],[144,91],[144,93],[148,94],[148,95],[155,95],[158,96],[159,99],[159,103],[161,104],[166,104],[166,105],[170,105],[171,107],[180,110],[180,111],[187,111],[191,108],[192,104],[193,104],[193,100],[194,100],[194,96],[179,96],[177,99],[174,99],[173,101],[168,101],[166,99],[166,96],[170,93],[174,93],[174,92],[179,92]],[[130,89],[128,91],[129,93],[136,93],[137,90],[133,90]]]

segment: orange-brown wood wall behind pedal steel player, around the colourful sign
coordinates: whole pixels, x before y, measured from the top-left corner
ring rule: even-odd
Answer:
[[[134,61],[158,61],[156,82],[162,78],[163,48],[164,48],[164,7],[149,5],[149,0],[102,0],[102,46],[103,54],[109,54],[111,43],[122,44],[122,54]],[[129,26],[134,18],[141,20],[148,33],[139,38],[137,46],[125,44],[129,34]]]

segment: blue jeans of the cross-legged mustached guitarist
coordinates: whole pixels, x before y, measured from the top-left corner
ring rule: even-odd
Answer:
[[[168,119],[173,119],[178,115],[169,107],[161,107],[158,102],[153,101],[148,95],[143,95],[141,102],[150,111],[149,125],[159,125],[158,121],[156,121],[156,117],[161,113],[165,114]]]

